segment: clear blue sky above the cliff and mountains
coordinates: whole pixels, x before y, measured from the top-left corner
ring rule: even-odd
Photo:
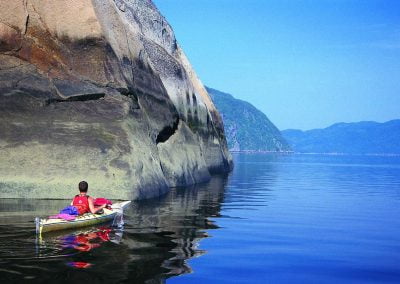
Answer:
[[[203,83],[279,129],[400,118],[400,1],[153,2]]]

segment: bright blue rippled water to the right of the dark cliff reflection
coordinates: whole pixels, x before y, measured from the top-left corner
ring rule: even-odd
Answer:
[[[236,155],[221,215],[171,283],[400,283],[400,157]]]

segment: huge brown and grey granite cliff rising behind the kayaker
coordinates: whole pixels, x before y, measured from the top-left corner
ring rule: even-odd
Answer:
[[[231,167],[150,0],[0,0],[0,198],[148,198]]]

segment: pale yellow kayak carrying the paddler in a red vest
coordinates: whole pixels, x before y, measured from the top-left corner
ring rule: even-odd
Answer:
[[[74,220],[70,221],[66,221],[63,219],[47,219],[36,217],[36,232],[41,235],[45,232],[75,229],[104,223],[114,219],[118,214],[123,214],[123,209],[127,207],[130,203],[130,201],[115,203],[111,205],[110,209],[103,208],[103,213],[101,214],[85,213],[83,215],[77,216]]]

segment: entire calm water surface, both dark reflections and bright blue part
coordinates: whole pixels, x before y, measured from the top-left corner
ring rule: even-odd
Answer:
[[[229,177],[36,239],[66,201],[0,200],[0,279],[400,283],[400,157],[235,155]]]

